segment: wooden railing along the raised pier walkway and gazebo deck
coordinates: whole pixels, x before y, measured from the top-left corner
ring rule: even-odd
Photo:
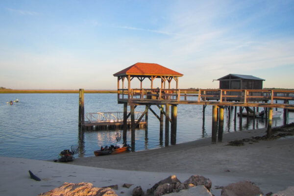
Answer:
[[[239,89],[118,89],[118,99],[142,101],[209,101],[273,103],[273,100],[294,100],[293,90],[239,90]]]

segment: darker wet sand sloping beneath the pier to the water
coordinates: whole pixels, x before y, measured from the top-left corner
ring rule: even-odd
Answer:
[[[242,178],[255,182],[266,194],[294,185],[294,137],[246,142],[240,147],[226,145],[228,141],[265,134],[266,129],[233,132],[224,134],[223,142],[215,145],[211,138],[205,138],[159,149],[79,158],[70,164]]]

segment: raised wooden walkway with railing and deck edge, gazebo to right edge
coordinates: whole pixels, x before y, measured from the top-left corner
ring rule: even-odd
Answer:
[[[283,102],[278,103],[278,100]],[[294,104],[289,104],[289,100],[294,100],[293,90],[118,89],[119,102],[134,104],[234,105],[294,109]]]

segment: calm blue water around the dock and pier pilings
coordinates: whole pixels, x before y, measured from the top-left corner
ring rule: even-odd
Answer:
[[[20,100],[13,105],[7,101]],[[128,107],[129,109],[129,107]],[[159,109],[152,106],[159,114]],[[135,111],[144,111],[138,106]],[[281,110],[281,109],[279,109]],[[85,113],[123,111],[123,104],[117,104],[117,94],[85,94]],[[238,108],[239,111],[239,108]],[[197,140],[211,135],[212,106],[206,107],[205,123],[202,121],[202,106],[178,105],[177,143]],[[224,111],[224,132],[242,131],[266,127],[266,120],[244,117],[242,124],[237,117],[234,123]],[[289,113],[289,123],[294,122],[294,114]],[[56,159],[63,149],[72,145],[81,146],[78,157],[94,156],[93,151],[101,145],[116,144],[118,131],[78,131],[78,94],[0,94],[0,156],[22,157],[38,160]],[[273,119],[273,126],[283,124],[283,117]],[[123,131],[120,131],[123,135]],[[127,143],[131,134],[127,132]],[[119,143],[122,144],[123,141]],[[145,150],[164,147],[159,139],[159,121],[149,112],[148,130],[136,130],[135,149]]]

